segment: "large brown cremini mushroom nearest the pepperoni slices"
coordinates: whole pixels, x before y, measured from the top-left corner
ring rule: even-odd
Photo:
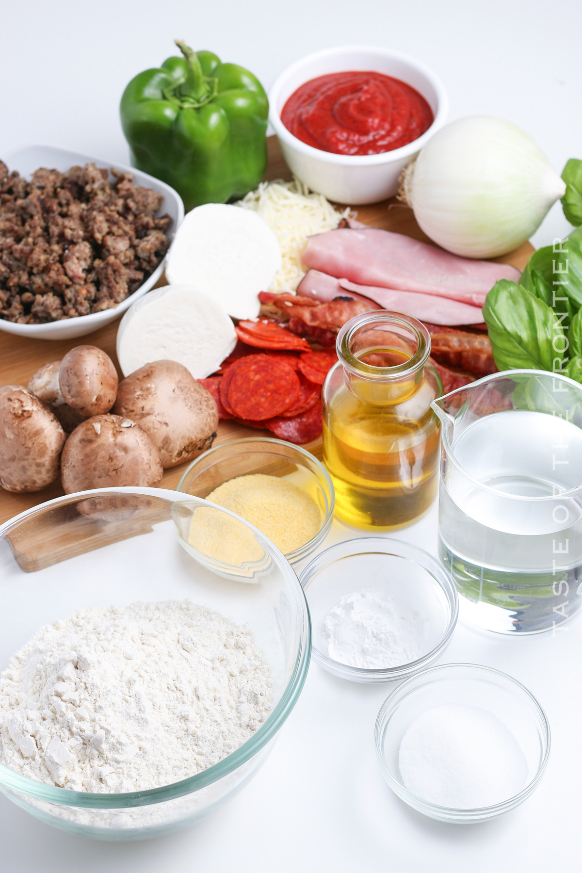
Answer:
[[[113,412],[151,436],[164,467],[192,460],[216,438],[214,397],[176,361],[153,361],[128,375],[120,382]]]

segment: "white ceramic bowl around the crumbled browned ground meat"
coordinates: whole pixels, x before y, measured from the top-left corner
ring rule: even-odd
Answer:
[[[100,161],[99,158],[79,155],[78,152],[69,152],[65,148],[54,148],[53,146],[18,148],[17,151],[10,152],[9,155],[3,155],[2,160],[10,172],[16,169],[20,175],[29,178],[35,169],[39,167],[58,169],[61,173],[65,173],[66,170],[76,165],[83,166],[86,163],[94,163],[98,167],[106,167],[107,169],[113,167],[120,173],[133,173],[136,185],[154,189],[154,191],[163,196],[164,199],[161,203],[159,215],[168,213],[168,216],[172,219],[172,226],[168,231],[170,241],[174,238],[175,230],[184,217],[184,204],[181,202],[181,196],[177,191],[170,188],[166,182],[154,179],[153,175],[142,173],[141,170],[134,167],[126,167],[124,164],[110,161]],[[143,297],[150,288],[153,288],[161,277],[164,261],[165,258],[143,285],[140,285],[137,291],[130,294],[126,300],[114,309],[106,309],[102,313],[79,315],[79,318],[76,319],[49,321],[44,325],[19,325],[13,321],[0,319],[0,330],[4,330],[7,333],[17,333],[19,336],[31,336],[37,340],[72,340],[77,336],[85,336],[86,333],[92,333],[95,330],[99,330],[99,327],[105,327],[115,319],[119,319],[120,315],[125,313],[129,306],[140,299],[140,297]]]

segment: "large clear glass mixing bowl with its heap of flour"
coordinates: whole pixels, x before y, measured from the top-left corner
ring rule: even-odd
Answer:
[[[216,506],[225,535],[236,519],[234,530],[244,525],[267,560],[243,584],[211,572],[180,544],[182,504],[209,506],[176,491],[109,488],[51,500],[0,527],[0,755],[12,765],[0,764],[0,790],[41,821],[106,840],[184,827],[253,777],[298,700],[312,636],[297,576],[256,528]],[[95,691],[92,670],[104,658],[113,660]],[[30,698],[7,694],[29,685]],[[160,725],[155,695],[168,688],[174,720]],[[172,759],[176,742],[183,756],[178,748]],[[156,771],[176,772],[188,755],[194,774],[161,784]],[[154,787],[132,790],[150,775]]]

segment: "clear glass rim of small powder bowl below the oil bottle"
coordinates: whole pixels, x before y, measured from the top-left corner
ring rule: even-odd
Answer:
[[[366,545],[370,547],[366,548]],[[349,551],[346,551],[346,554],[339,554],[344,550]],[[332,552],[338,554],[332,556],[330,554]],[[403,554],[402,552],[409,552],[410,554]],[[445,630],[442,639],[437,643],[437,645],[435,645],[434,649],[431,649],[426,655],[417,658],[416,661],[410,661],[409,663],[401,664],[398,667],[380,667],[373,670],[368,670],[363,667],[352,667],[350,664],[341,663],[341,661],[334,661],[333,658],[324,655],[323,652],[320,652],[313,645],[312,653],[322,666],[331,670],[331,672],[336,676],[342,672],[346,677],[352,677],[354,679],[362,677],[366,679],[366,681],[381,679],[383,682],[408,678],[410,677],[411,672],[414,672],[414,676],[417,676],[419,670],[422,669],[422,665],[434,661],[435,657],[447,648],[451,636],[453,636],[456,622],[459,617],[459,595],[455,583],[445,567],[442,566],[441,562],[434,558],[433,555],[425,552],[425,550],[419,546],[413,546],[412,543],[407,543],[405,540],[393,540],[388,537],[359,537],[353,540],[342,540],[342,542],[336,543],[334,546],[329,546],[329,548],[326,548],[324,552],[316,555],[316,557],[310,561],[299,575],[301,587],[305,591],[305,588],[309,585],[313,576],[320,573],[324,567],[335,563],[336,560],[343,560],[344,558],[349,558],[355,554],[363,553],[392,554],[398,558],[411,560],[420,567],[423,567],[435,578],[444,591],[450,608],[447,629]],[[329,560],[330,558],[332,558],[332,560]]]

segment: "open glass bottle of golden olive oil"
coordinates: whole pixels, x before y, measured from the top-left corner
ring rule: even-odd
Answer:
[[[366,530],[394,530],[428,510],[438,490],[442,394],[420,321],[376,310],[348,321],[323,388],[324,463],[336,514]]]

